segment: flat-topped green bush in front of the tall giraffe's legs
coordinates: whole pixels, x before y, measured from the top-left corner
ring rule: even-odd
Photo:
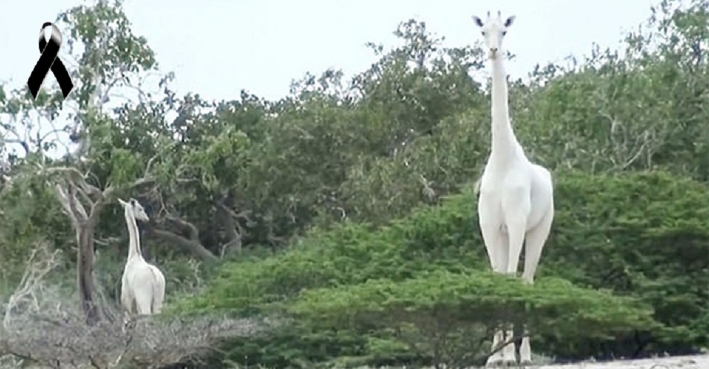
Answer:
[[[441,352],[440,346],[452,341],[458,341],[466,356],[476,348],[472,354],[477,357],[467,360],[486,358],[487,346],[464,347],[465,343],[486,341],[498,324],[506,322],[526,323],[535,336],[565,340],[610,339],[614,333],[649,331],[657,326],[652,309],[607,291],[586,290],[554,278],[525,285],[479,271],[435,270],[402,282],[369,280],[306,290],[289,310],[294,319],[319,330],[353,329],[362,336],[372,329],[396,332],[393,337],[397,339],[389,341],[393,347],[388,347],[384,357],[413,351],[419,360],[437,365],[462,359],[460,352]],[[475,327],[480,329],[475,331]],[[468,329],[461,335],[463,328]],[[377,341],[384,343],[381,338]],[[427,348],[422,349],[422,341],[428,343]],[[373,349],[369,344],[368,349]],[[382,351],[373,350],[369,359],[376,362]]]

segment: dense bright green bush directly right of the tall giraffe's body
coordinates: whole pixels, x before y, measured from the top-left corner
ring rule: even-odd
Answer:
[[[709,282],[708,186],[663,172],[559,177],[556,197],[564,200],[540,274],[639,297],[666,325],[655,333],[659,341],[706,345],[706,334],[690,327],[708,309],[699,282]]]

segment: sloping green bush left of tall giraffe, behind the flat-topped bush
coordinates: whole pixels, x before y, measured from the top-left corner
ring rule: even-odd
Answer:
[[[213,300],[203,303],[208,309],[251,310],[258,299],[278,301],[303,288],[359,283],[381,275],[403,280],[435,268],[435,263],[452,269],[482,268],[486,261],[481,253],[470,252],[481,239],[477,234],[470,239],[470,232],[464,231],[471,226],[467,223],[471,210],[465,202],[424,207],[407,221],[395,221],[376,233],[367,224],[348,223],[330,231],[315,228],[290,252],[225,265],[211,285]]]

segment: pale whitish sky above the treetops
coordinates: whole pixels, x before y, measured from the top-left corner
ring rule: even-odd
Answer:
[[[125,0],[133,32],[173,71],[172,88],[206,99],[238,99],[241,89],[279,99],[292,79],[328,67],[350,76],[376,60],[364,43],[395,45],[400,21],[417,18],[445,36],[445,46],[479,40],[472,14],[514,14],[505,47],[517,55],[510,77],[525,77],[538,62],[584,55],[592,43],[615,48],[625,31],[650,15],[652,0]],[[8,1],[0,11],[0,82],[26,84],[37,61],[45,21],[79,0]],[[61,53],[60,53],[61,55]],[[48,77],[53,79],[53,77]],[[52,81],[53,82],[53,81]],[[45,82],[47,83],[47,82]]]

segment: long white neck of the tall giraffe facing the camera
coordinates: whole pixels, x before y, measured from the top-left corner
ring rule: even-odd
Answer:
[[[502,55],[492,60],[491,157],[506,160],[517,153],[519,143],[510,124],[507,76]]]

